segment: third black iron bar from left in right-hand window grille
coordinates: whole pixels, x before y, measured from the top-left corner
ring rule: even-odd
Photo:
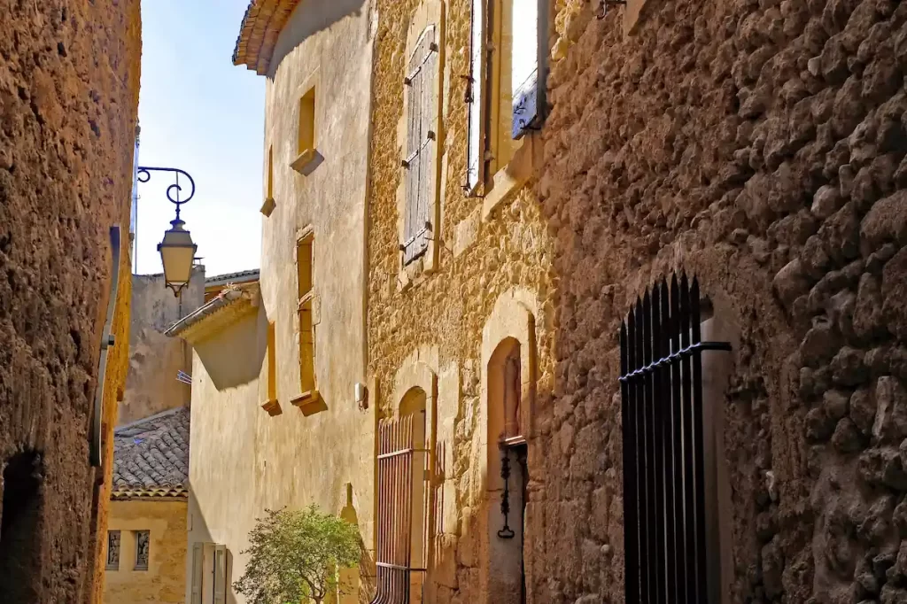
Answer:
[[[636,346],[634,346],[635,368],[645,365],[644,342],[645,342],[645,317],[642,314],[642,300],[637,298],[636,308],[634,309],[636,318]],[[646,397],[645,385],[641,377],[634,378],[634,390],[636,391],[636,434],[637,439],[637,467],[639,468],[639,583],[643,604],[651,602],[651,575],[649,565],[649,482],[646,480],[646,473],[649,469],[649,460],[646,458],[649,434],[646,431]]]

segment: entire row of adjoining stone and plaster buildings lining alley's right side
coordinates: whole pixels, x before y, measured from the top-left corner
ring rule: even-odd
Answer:
[[[330,6],[234,57],[267,218],[180,327],[198,541],[349,483],[366,601],[907,599],[907,5]]]

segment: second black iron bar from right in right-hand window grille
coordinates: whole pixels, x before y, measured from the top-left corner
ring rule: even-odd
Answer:
[[[689,346],[689,282],[687,275],[680,277],[680,345],[686,348]],[[688,355],[683,356],[680,360],[680,371],[682,375],[681,390],[683,396],[683,445],[684,445],[684,541],[687,545],[687,570],[688,585],[687,598],[688,602],[696,604],[705,604],[699,599],[699,586],[697,577],[699,576],[700,560],[697,558],[696,549],[696,488],[694,484],[694,466],[696,463],[693,442],[693,414],[692,414],[692,380],[690,359]]]

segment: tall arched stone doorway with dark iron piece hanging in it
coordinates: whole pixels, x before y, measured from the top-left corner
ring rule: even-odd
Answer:
[[[483,604],[520,604],[531,568],[531,535],[523,534],[536,391],[535,297],[512,289],[497,299],[482,333],[482,403],[476,438],[481,468],[477,516],[479,582]],[[501,511],[502,460],[510,466],[507,481],[511,511],[507,535]],[[499,533],[499,531],[502,531]],[[523,600],[524,601],[524,600]]]

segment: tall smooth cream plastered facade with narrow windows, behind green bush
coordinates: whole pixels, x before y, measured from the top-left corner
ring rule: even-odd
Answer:
[[[260,296],[255,312],[191,342],[190,550],[225,545],[231,581],[266,508],[313,502],[356,522],[366,552],[354,574],[367,585],[373,572],[375,413],[355,398],[366,382],[370,10],[363,0],[302,3],[279,32],[264,82],[273,176],[268,190],[266,159],[262,199],[275,206],[262,219]],[[297,161],[300,99],[313,87],[315,152]],[[309,233],[318,404],[300,408],[297,242]],[[279,410],[266,411],[270,323]]]

